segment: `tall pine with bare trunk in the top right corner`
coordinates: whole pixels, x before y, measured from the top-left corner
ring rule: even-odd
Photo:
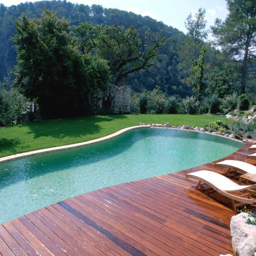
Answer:
[[[256,0],[227,0],[227,9],[226,20],[216,19],[211,29],[227,58],[241,63],[243,94],[248,76],[256,75]]]

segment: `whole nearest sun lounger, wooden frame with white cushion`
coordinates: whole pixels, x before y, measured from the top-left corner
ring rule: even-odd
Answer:
[[[238,185],[229,178],[216,173],[211,172],[207,170],[202,170],[198,172],[192,172],[186,174],[187,178],[192,178],[195,180],[199,180],[197,183],[197,186],[195,189],[197,189],[200,185],[207,184],[210,187],[212,187],[214,190],[219,192],[220,194],[224,195],[225,197],[231,199],[232,207],[234,211],[237,211],[237,207],[244,205],[244,204],[250,204],[253,205],[256,200],[251,199],[250,194],[256,195],[256,192],[251,189],[256,189],[256,184],[254,185]],[[203,182],[204,184],[201,184]],[[233,195],[230,192],[240,192],[240,191],[246,191],[245,194],[242,195]],[[248,198],[244,198],[244,196],[247,196]],[[239,202],[239,203],[235,203]]]

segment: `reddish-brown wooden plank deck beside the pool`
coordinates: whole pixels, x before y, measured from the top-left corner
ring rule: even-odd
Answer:
[[[224,159],[248,160],[247,143]],[[0,225],[2,255],[233,254],[229,199],[185,174],[214,162],[64,200]],[[231,174],[238,180],[237,174]],[[11,202],[10,202],[11,203]],[[254,211],[255,208],[253,208]]]

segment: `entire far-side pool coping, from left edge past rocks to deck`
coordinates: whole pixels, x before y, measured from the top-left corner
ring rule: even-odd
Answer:
[[[108,140],[108,139],[116,137],[116,136],[118,136],[118,135],[120,135],[120,134],[122,134],[126,131],[130,131],[130,130],[133,130],[133,129],[136,129],[136,128],[160,128],[160,129],[181,130],[179,128],[153,127],[153,126],[150,126],[150,125],[130,126],[130,127],[121,129],[119,131],[116,131],[115,133],[111,133],[109,135],[106,135],[104,137],[94,139],[94,140],[88,140],[88,141],[84,141],[84,142],[79,142],[79,143],[74,143],[74,144],[69,144],[69,145],[63,145],[63,146],[57,146],[57,147],[51,147],[51,148],[43,148],[43,149],[33,150],[33,151],[29,151],[29,152],[24,152],[24,153],[18,153],[18,154],[15,154],[15,155],[9,155],[7,157],[1,157],[0,158],[0,163],[10,161],[10,160],[13,160],[13,159],[16,159],[16,158],[27,157],[27,156],[30,156],[30,155],[43,154],[43,153],[54,152],[54,151],[65,150],[65,149],[76,148],[76,147],[82,147],[82,146],[85,146],[85,145],[98,143],[100,141]],[[182,129],[182,131],[194,131],[194,130]],[[205,131],[194,131],[194,132],[206,133]],[[227,138],[229,140],[235,140],[235,141],[238,141],[238,142],[244,144],[243,141],[237,140],[237,139],[234,139],[234,138],[229,138],[229,137],[225,137],[225,136],[218,135],[218,134],[212,134],[212,133],[206,133],[206,134],[215,135],[215,136],[219,136],[219,137],[222,137],[222,138]]]

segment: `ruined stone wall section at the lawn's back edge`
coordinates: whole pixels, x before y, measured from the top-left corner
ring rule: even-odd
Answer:
[[[115,86],[115,98],[113,102],[113,112],[118,113],[130,113],[130,98],[131,88],[130,86]]]

